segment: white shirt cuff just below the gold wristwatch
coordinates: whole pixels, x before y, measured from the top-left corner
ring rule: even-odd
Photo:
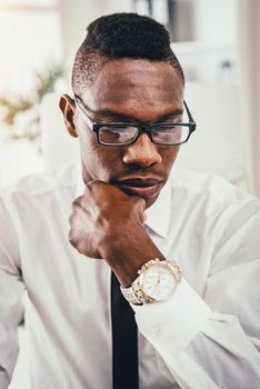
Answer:
[[[141,333],[158,351],[177,357],[212,315],[209,306],[182,278],[174,293],[161,302],[131,305]]]

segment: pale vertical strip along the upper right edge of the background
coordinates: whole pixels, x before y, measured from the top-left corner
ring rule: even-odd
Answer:
[[[260,1],[239,0],[241,116],[251,190],[260,197]]]

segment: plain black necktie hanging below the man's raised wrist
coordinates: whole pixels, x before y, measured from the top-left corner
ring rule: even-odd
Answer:
[[[111,273],[113,389],[138,389],[138,337],[134,312]]]

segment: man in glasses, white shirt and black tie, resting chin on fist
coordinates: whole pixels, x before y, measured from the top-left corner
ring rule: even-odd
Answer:
[[[1,199],[0,388],[24,291],[31,388],[112,388],[130,322],[113,322],[118,281],[140,388],[259,388],[259,203],[222,179],[169,178],[196,128],[169,34],[137,14],[96,20],[72,88],[60,108],[82,174],[23,179]]]

